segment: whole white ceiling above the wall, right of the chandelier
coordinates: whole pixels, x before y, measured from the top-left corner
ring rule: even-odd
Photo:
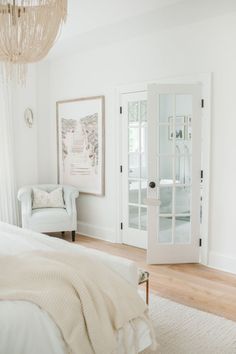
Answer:
[[[229,13],[236,0],[68,0],[67,22],[46,60]]]

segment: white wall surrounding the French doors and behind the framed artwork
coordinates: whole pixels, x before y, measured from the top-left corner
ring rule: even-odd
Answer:
[[[50,106],[48,114],[44,112],[38,117],[39,151],[43,152],[39,155],[40,182],[46,182],[46,178],[48,182],[56,181],[55,102],[83,96],[106,96],[106,196],[80,197],[82,232],[116,239],[115,88],[163,77],[212,72],[210,264],[236,272],[235,39],[236,16],[222,16],[170,30],[150,31],[143,36],[127,36],[126,40],[54,59],[47,69],[44,68],[47,85],[50,85]],[[47,98],[48,90],[45,89]],[[45,102],[45,98],[43,100]]]

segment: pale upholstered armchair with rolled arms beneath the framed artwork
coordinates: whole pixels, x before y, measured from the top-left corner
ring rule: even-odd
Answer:
[[[33,208],[33,190],[35,188],[53,192],[62,187],[64,207]],[[77,230],[76,198],[79,192],[75,187],[58,184],[41,184],[26,186],[19,190],[18,200],[21,202],[22,227],[37,232],[71,231],[75,241]]]

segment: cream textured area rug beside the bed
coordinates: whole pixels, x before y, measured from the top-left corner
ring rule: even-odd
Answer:
[[[236,354],[236,322],[154,294],[150,295],[149,311],[159,354]]]

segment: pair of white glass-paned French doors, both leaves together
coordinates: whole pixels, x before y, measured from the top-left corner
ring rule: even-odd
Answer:
[[[121,120],[123,243],[147,248],[148,263],[198,262],[199,86],[123,94]]]

